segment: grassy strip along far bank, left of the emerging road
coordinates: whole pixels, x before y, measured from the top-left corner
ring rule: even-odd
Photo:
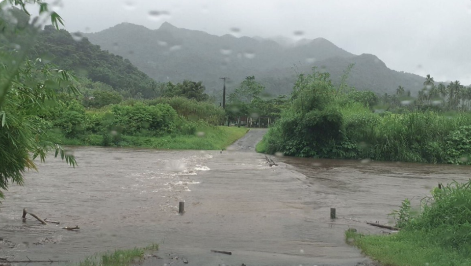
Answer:
[[[222,150],[241,138],[248,129],[224,126],[207,126],[197,130],[196,134],[169,134],[165,136],[128,136],[121,135],[112,139],[108,146],[142,147],[156,149],[181,150]],[[104,134],[88,134],[75,138],[62,137],[64,145],[104,146]]]

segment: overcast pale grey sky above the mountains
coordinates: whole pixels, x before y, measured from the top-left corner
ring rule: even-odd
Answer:
[[[471,84],[471,0],[62,0],[70,31],[121,22],[270,37],[324,37],[394,70]],[[169,15],[150,16],[166,11]]]

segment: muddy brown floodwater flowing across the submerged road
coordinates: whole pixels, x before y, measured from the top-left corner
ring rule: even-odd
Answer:
[[[285,157],[269,167],[250,151],[263,133],[222,153],[77,147],[75,169],[49,159],[5,193],[0,238],[12,243],[1,242],[0,257],[78,261],[154,242],[188,265],[353,266],[369,261],[345,243],[346,229],[379,233],[363,221],[391,222],[403,199],[418,206],[438,182],[470,178],[453,165]],[[22,223],[23,208],[61,224]]]

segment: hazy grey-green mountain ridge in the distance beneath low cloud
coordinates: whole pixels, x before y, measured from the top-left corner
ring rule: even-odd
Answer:
[[[293,66],[299,67],[302,73],[317,66],[330,72],[334,82],[339,82],[348,65],[355,63],[346,82],[379,94],[394,93],[399,85],[414,93],[421,89],[424,79],[390,69],[376,55],[349,53],[322,37],[284,46],[270,38],[218,36],[175,27],[168,22],[157,29],[121,23],[83,35],[103,49],[128,58],[157,81],[203,81],[207,91],[214,95],[220,94],[219,77],[232,78],[228,84],[231,91],[252,75],[264,82],[271,79],[265,84],[269,93],[289,94],[296,78]]]

